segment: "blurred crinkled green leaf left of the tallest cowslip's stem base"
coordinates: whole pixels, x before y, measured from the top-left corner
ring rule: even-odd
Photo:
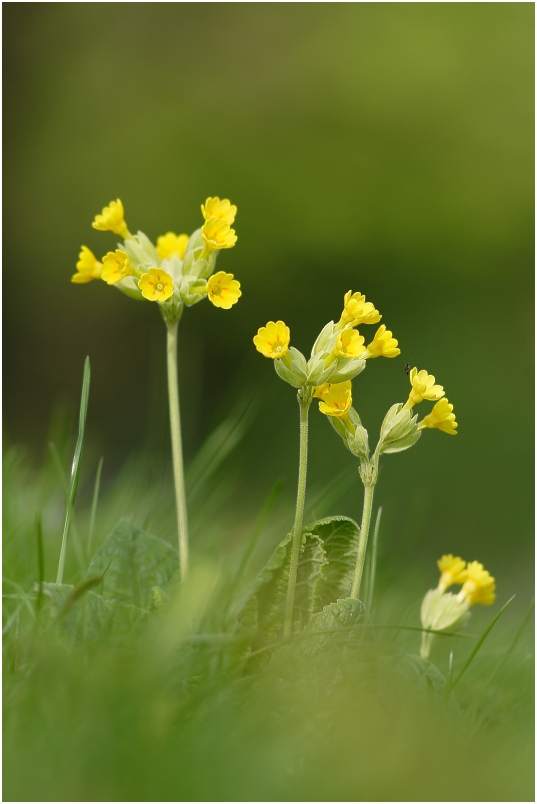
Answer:
[[[168,542],[123,519],[93,556],[89,575],[104,578],[105,600],[148,609],[151,589],[165,588],[177,576],[179,556]]]

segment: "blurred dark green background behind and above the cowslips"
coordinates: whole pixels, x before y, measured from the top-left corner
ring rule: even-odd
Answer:
[[[426,432],[383,461],[383,571],[434,577],[455,552],[485,563],[502,600],[520,593],[533,541],[533,17],[530,3],[5,6],[7,442],[50,460],[65,411],[74,432],[89,354],[82,497],[100,454],[105,487],[133,454],[170,472],[158,311],[69,280],[81,244],[114,248],[91,228],[110,200],[154,240],[193,231],[207,196],[228,197],[239,239],[219,269],[243,297],[186,311],[180,381],[187,462],[231,410],[255,412],[233,459],[229,538],[278,478],[290,504],[297,471],[294,391],[252,336],[282,318],[309,352],[352,288],[402,348],[354,383],[370,432],[406,398],[406,362],[435,374],[459,421],[457,438]],[[355,473],[311,418],[311,487]],[[327,513],[359,518],[358,479],[345,489]]]

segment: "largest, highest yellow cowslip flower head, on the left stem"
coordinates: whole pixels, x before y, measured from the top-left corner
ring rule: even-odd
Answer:
[[[123,238],[115,251],[98,260],[82,246],[77,272],[71,281],[85,284],[102,279],[134,299],[157,302],[166,320],[177,320],[183,307],[208,298],[215,307],[229,310],[241,296],[240,283],[233,274],[214,273],[218,252],[237,242],[231,224],[237,207],[228,199],[208,198],[201,205],[205,220],[192,235],[167,232],[154,246],[143,232],[132,235],[125,222],[123,204],[111,201],[93,228],[110,231]]]

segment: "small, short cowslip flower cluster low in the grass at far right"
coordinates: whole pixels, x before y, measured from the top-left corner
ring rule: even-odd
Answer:
[[[491,574],[479,561],[468,564],[451,553],[437,561],[440,580],[436,589],[430,589],[421,604],[421,622],[426,631],[422,634],[420,656],[426,659],[434,634],[427,631],[457,632],[470,616],[470,606],[490,606],[496,599],[496,584]],[[457,594],[446,590],[460,584]]]

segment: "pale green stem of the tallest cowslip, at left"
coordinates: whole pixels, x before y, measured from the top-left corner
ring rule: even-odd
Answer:
[[[177,326],[178,321],[166,321],[168,329],[168,397],[170,400],[170,426],[172,436],[173,476],[177,505],[177,529],[179,536],[179,567],[181,581],[188,575],[188,522],[186,514],[185,477],[183,448],[181,444],[181,419],[179,416],[179,386],[177,380]]]

